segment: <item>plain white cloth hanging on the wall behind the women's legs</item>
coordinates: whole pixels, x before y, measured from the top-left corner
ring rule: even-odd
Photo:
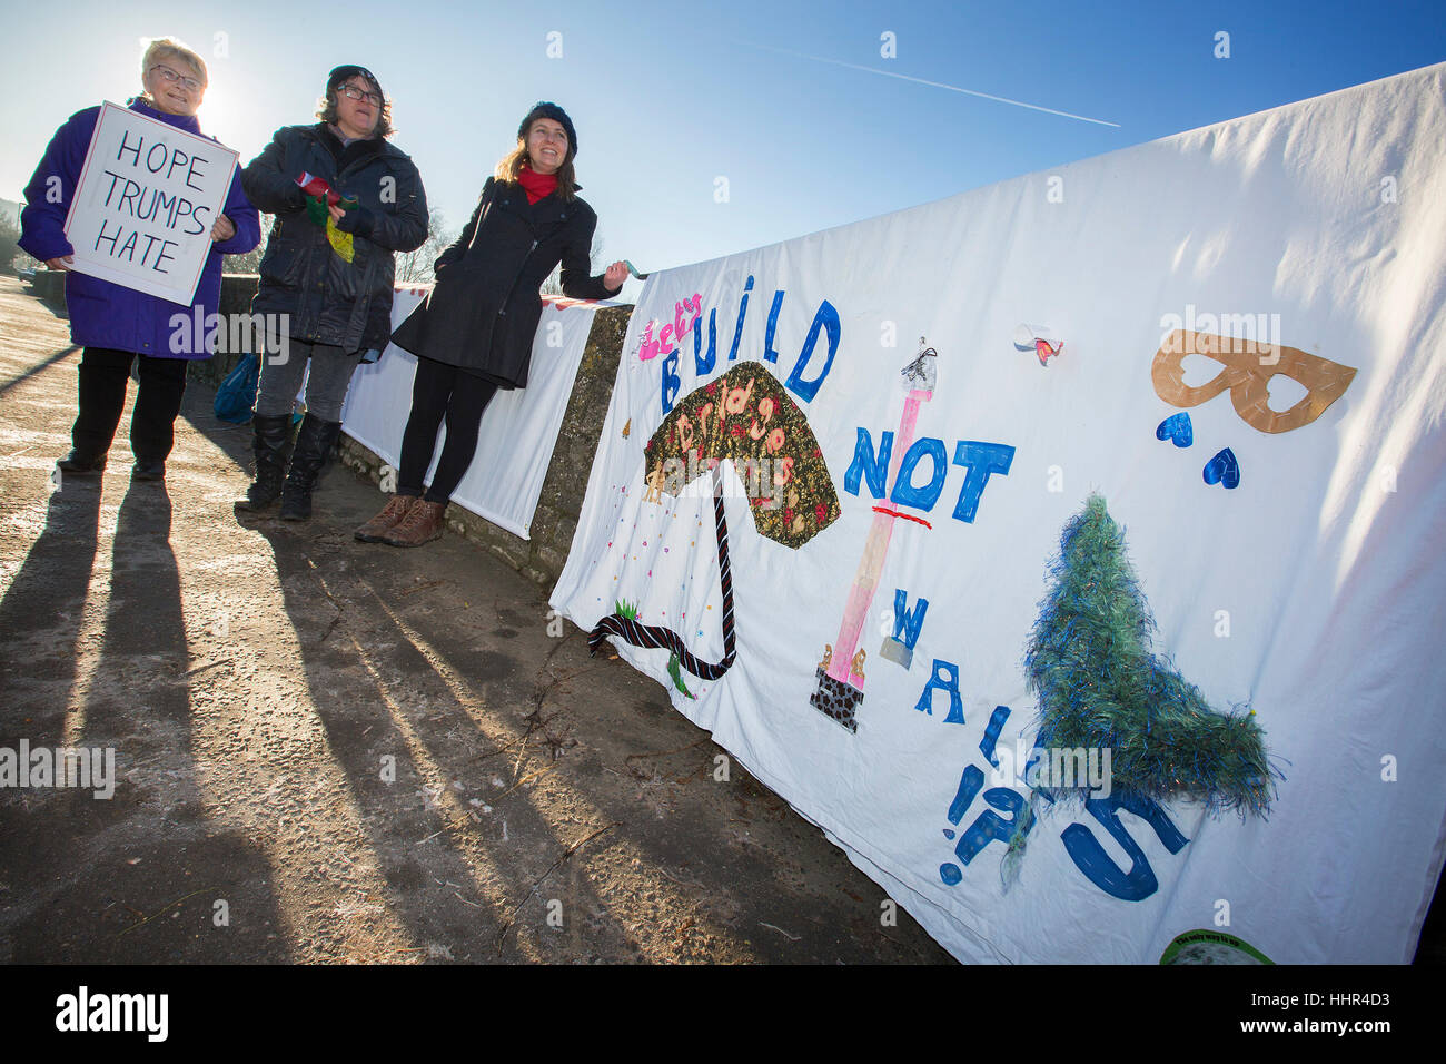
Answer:
[[[393,330],[427,292],[427,288],[396,291],[392,301]],[[477,457],[453,492],[453,502],[513,536],[531,539],[528,530],[532,514],[542,495],[552,447],[562,427],[567,401],[573,395],[587,334],[593,329],[593,311],[613,305],[620,304],[542,297],[542,317],[532,340],[528,387],[497,391],[487,404],[477,436]],[[380,360],[357,368],[341,408],[343,431],[393,468],[402,457],[402,431],[412,410],[415,373],[416,356],[396,345],[388,345]],[[444,426],[437,434],[427,484],[432,481],[445,439]]]

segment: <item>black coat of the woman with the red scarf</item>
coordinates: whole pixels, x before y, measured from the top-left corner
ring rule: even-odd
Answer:
[[[422,358],[525,388],[532,337],[542,317],[538,288],[562,263],[562,292],[574,300],[615,295],[589,276],[597,214],[557,193],[528,204],[522,185],[487,178],[467,227],[437,259],[437,285],[392,334]]]

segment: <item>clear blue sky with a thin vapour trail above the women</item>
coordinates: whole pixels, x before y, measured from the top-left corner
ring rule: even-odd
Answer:
[[[578,130],[578,180],[600,217],[603,258],[645,271],[1446,61],[1439,0],[466,10],[431,0],[82,0],[7,22],[3,198],[20,198],[67,116],[134,94],[137,39],[169,33],[207,58],[202,129],[243,164],[278,126],[311,119],[333,65],[370,67],[393,98],[393,142],[453,229],[531,103],[557,100]],[[1229,58],[1215,55],[1219,32]],[[882,54],[885,33],[894,56]]]

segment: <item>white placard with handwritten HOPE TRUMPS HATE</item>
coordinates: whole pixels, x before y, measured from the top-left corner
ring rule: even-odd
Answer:
[[[65,217],[71,269],[189,304],[236,152],[106,101]]]

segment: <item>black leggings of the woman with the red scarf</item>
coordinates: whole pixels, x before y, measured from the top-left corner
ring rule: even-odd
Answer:
[[[412,382],[412,413],[402,433],[402,468],[398,469],[396,494],[422,495],[422,478],[432,463],[437,430],[447,418],[447,442],[432,476],[432,486],[422,495],[428,502],[450,502],[477,450],[482,414],[497,385],[435,359],[416,359]]]

